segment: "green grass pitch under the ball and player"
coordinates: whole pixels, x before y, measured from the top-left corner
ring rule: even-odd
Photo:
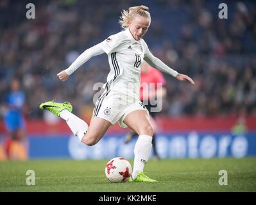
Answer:
[[[256,192],[256,158],[149,160],[144,171],[158,183],[110,183],[107,161],[0,162],[0,192]],[[35,171],[35,186],[26,185],[27,170]],[[228,172],[228,185],[219,185],[219,170]]]

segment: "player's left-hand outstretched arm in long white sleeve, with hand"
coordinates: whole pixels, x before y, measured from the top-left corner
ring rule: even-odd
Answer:
[[[80,56],[78,56],[78,58],[76,58],[76,60],[71,64],[71,66],[59,72],[57,74],[58,78],[61,81],[66,81],[67,78],[69,78],[69,76],[73,74],[74,71],[76,71],[76,69],[78,69],[81,65],[83,65],[83,63],[92,58],[92,56],[98,56],[99,54],[103,53],[104,51],[101,48],[100,44],[90,47],[89,49],[85,50],[82,54],[80,54]]]

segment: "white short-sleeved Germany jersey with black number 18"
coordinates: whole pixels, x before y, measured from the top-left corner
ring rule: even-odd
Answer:
[[[103,88],[139,98],[141,64],[149,53],[146,42],[142,38],[135,40],[129,29],[126,29],[111,35],[100,46],[107,53],[110,65],[107,83]]]

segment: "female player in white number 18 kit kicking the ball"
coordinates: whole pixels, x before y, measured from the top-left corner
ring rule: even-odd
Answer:
[[[139,100],[141,63],[145,60],[152,67],[180,81],[189,81],[192,84],[194,81],[169,68],[150,53],[148,45],[142,39],[151,23],[148,7],[133,6],[123,10],[119,23],[123,31],[85,50],[68,69],[57,74],[61,81],[66,81],[92,56],[107,53],[110,72],[107,83],[103,85],[105,91],[96,102],[90,126],[71,113],[72,106],[69,102],[48,101],[40,104],[40,108],[64,119],[74,135],[89,146],[99,142],[108,127],[115,122],[119,122],[121,127],[130,127],[139,135],[134,148],[135,158],[131,181],[155,182],[156,180],[150,179],[143,172],[144,164],[148,161],[151,151],[154,130],[149,120],[148,110]]]

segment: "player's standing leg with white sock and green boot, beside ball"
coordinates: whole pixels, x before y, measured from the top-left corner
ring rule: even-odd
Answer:
[[[134,147],[134,164],[132,179],[135,181],[155,182],[143,173],[144,165],[152,147],[152,136],[154,134],[153,124],[150,122],[148,111],[137,110],[129,113],[124,123],[138,133],[139,138]]]

